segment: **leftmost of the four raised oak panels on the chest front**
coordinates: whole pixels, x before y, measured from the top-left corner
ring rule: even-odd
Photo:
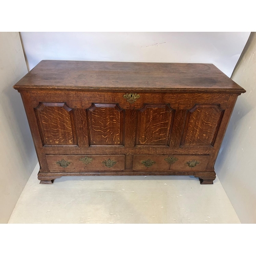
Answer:
[[[41,102],[35,109],[44,145],[76,145],[73,110],[65,103]]]

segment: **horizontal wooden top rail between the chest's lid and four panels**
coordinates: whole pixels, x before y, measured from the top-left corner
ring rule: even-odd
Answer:
[[[141,89],[133,90],[134,92],[138,92]],[[20,90],[22,92],[23,90]],[[38,94],[38,91],[40,93]],[[49,93],[52,91],[52,93]],[[119,106],[121,109],[141,109],[144,106],[144,103],[147,104],[166,104],[169,105],[174,110],[189,110],[192,109],[197,104],[216,104],[218,102],[220,104],[220,108],[225,110],[227,108],[228,100],[230,97],[229,93],[173,93],[172,90],[169,90],[168,93],[143,93],[139,92],[140,98],[137,99],[134,103],[129,103],[126,99],[123,98],[126,90],[123,92],[95,92],[80,89],[77,90],[68,90],[63,94],[62,90],[29,90],[30,98],[31,98],[31,106],[36,108],[40,102],[66,102],[69,108],[72,109],[89,109],[92,105],[92,102],[119,102]],[[170,93],[172,92],[172,93]],[[76,95],[76,97],[74,97]]]

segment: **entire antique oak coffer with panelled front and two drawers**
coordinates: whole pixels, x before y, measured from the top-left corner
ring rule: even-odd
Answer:
[[[40,183],[61,176],[216,178],[215,161],[245,90],[212,64],[42,60],[14,86]]]

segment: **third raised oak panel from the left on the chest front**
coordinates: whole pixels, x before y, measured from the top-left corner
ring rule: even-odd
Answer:
[[[168,145],[173,117],[169,105],[144,105],[138,111],[136,145]]]

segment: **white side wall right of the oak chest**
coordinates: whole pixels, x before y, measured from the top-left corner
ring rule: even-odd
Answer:
[[[215,168],[241,223],[256,223],[256,33],[252,32],[232,79],[238,97]]]

